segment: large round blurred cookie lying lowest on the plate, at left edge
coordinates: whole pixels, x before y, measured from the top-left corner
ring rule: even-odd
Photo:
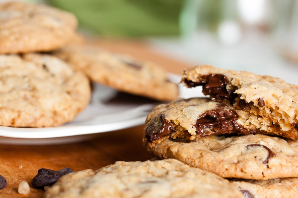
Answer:
[[[89,80],[56,56],[0,55],[0,126],[49,127],[89,102]]]

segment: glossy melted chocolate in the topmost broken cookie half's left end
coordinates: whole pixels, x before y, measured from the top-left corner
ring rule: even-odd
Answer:
[[[204,95],[210,95],[215,99],[228,99],[232,102],[237,97],[237,94],[234,94],[234,90],[227,91],[227,78],[223,74],[209,74],[204,75],[201,78],[204,80],[201,80],[200,82],[193,82],[187,79],[184,79],[184,82],[188,87],[203,85]]]

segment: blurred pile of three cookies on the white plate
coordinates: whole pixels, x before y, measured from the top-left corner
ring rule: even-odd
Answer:
[[[0,4],[0,126],[50,127],[70,122],[91,96],[91,81],[157,100],[177,85],[161,67],[90,47],[75,16],[47,5]]]

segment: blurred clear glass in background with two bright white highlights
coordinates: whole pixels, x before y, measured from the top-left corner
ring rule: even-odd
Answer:
[[[208,32],[233,45],[247,35],[268,33],[271,7],[269,0],[185,0],[180,27],[183,35]]]

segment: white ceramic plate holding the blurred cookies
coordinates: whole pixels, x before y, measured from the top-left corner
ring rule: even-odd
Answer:
[[[180,76],[170,74],[178,83]],[[62,144],[86,140],[92,134],[110,132],[142,125],[157,101],[138,97],[114,89],[92,84],[90,104],[72,122],[59,127],[15,128],[0,127],[0,144]],[[180,97],[202,95],[201,91],[179,85]]]

